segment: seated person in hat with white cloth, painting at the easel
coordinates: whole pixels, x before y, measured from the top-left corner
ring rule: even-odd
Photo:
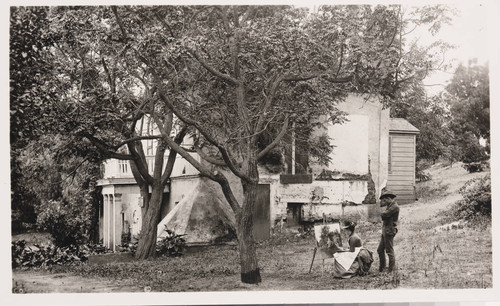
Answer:
[[[355,222],[344,221],[342,229],[349,231],[349,249],[333,254],[333,258],[335,258],[333,276],[351,278],[355,275],[366,275],[373,262],[372,252],[362,247],[361,238],[354,233]]]

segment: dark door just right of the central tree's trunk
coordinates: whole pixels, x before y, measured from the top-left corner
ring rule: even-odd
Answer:
[[[255,203],[253,215],[253,235],[257,241],[267,239],[270,236],[269,206],[270,185],[258,185],[257,201]]]

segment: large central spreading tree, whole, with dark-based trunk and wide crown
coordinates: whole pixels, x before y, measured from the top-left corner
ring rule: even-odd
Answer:
[[[422,23],[437,28],[440,15],[433,12],[416,10],[409,22],[399,6],[323,6],[315,14],[261,6],[117,10],[116,22],[131,41],[138,37],[138,24],[151,25],[148,36],[158,42],[156,53],[141,56],[146,50],[140,46],[134,52],[147,67],[156,95],[196,130],[199,154],[224,165],[241,182],[240,201],[223,172],[166,139],[221,185],[236,216],[243,282],[261,281],[253,237],[259,160],[287,132],[341,120],[335,105],[347,93],[388,102],[405,82],[425,77],[435,59],[429,49],[418,50],[419,57],[408,55],[404,34],[406,27]],[[175,73],[165,77],[173,68]],[[311,153],[322,153],[321,162],[327,152]]]

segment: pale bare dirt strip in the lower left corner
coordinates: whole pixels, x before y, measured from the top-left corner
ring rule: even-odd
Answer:
[[[65,273],[13,271],[12,285],[16,293],[110,293],[144,292],[144,288],[128,286],[120,281],[83,278]]]

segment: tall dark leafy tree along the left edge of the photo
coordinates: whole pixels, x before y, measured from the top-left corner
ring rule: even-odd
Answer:
[[[41,109],[54,92],[46,79],[51,63],[42,54],[53,44],[48,10],[43,7],[12,7],[10,11],[10,145],[12,227],[34,224],[36,194],[20,183],[23,173],[19,154],[44,131]]]

